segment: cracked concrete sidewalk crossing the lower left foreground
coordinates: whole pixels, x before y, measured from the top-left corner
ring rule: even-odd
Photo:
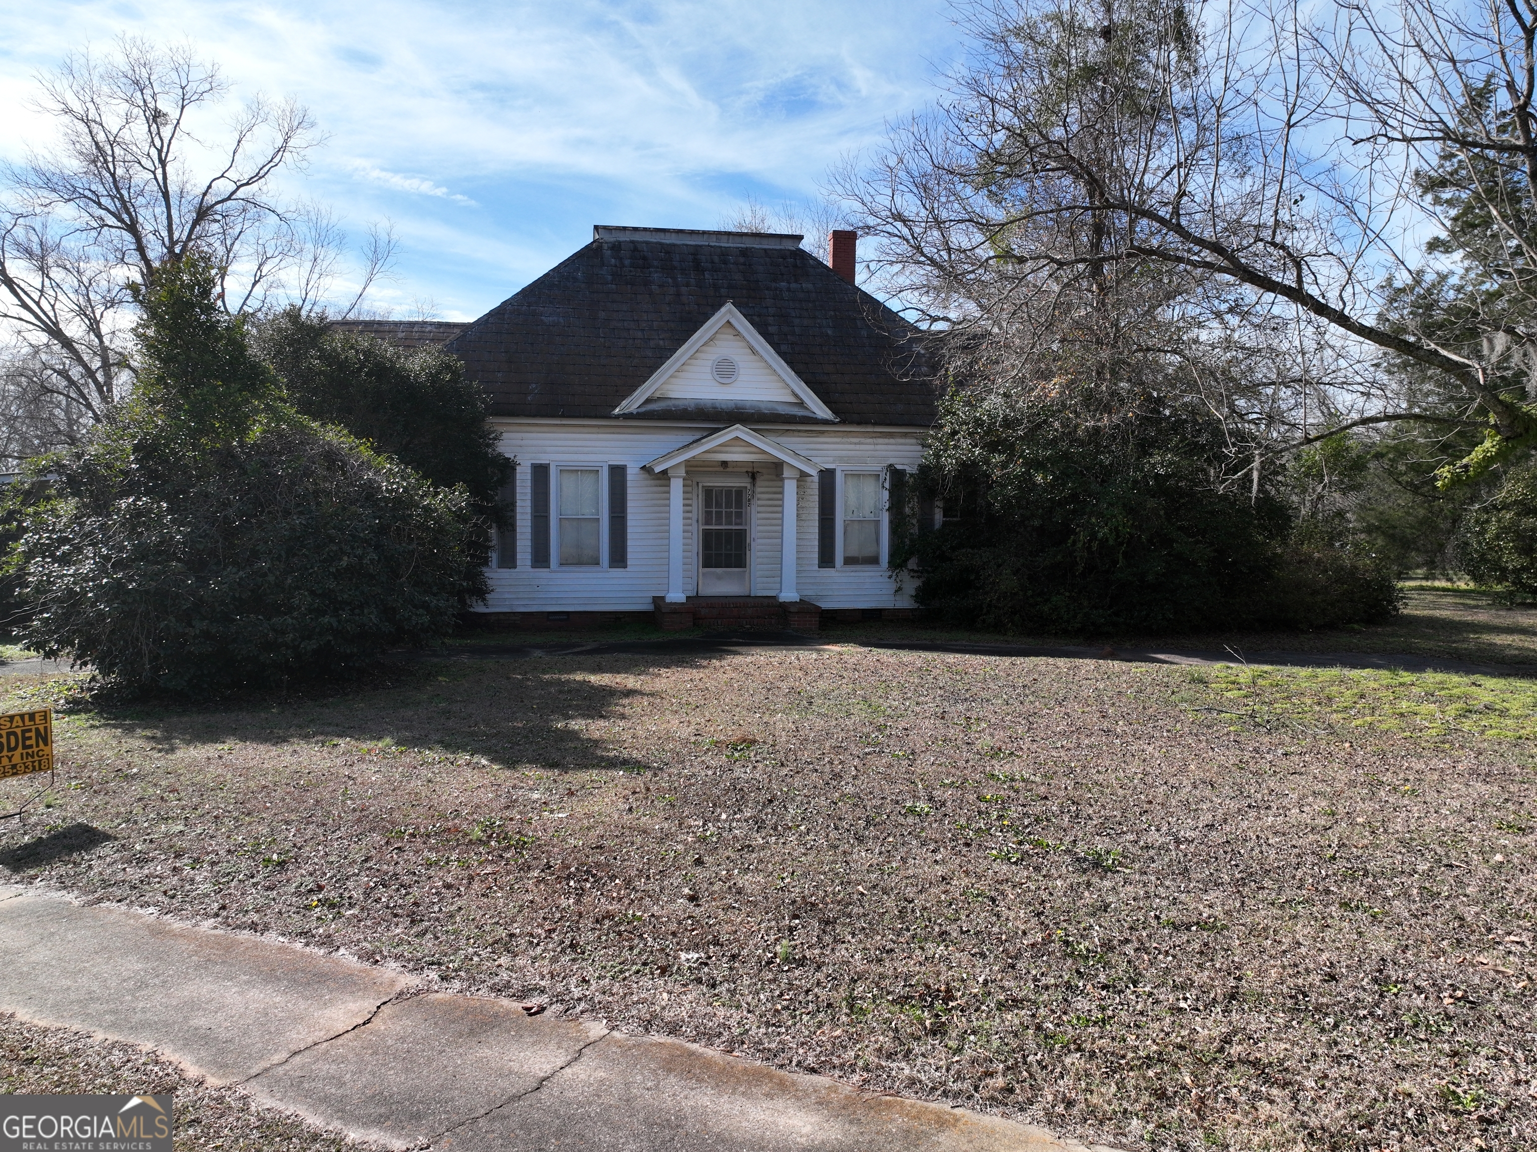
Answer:
[[[0,886],[0,1010],[143,1044],[393,1149],[1085,1152],[964,1109],[12,886]]]

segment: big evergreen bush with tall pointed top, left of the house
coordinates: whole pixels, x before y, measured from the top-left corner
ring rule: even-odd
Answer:
[[[483,531],[435,488],[287,405],[206,265],[141,291],[134,401],[77,451],[17,544],[25,643],[180,694],[337,677],[455,623]]]

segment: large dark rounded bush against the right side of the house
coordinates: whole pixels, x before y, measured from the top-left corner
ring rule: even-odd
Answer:
[[[1393,615],[1393,575],[1293,534],[1268,488],[1217,483],[1220,429],[1156,392],[953,392],[918,492],[916,600],[1004,632],[1326,628]],[[927,526],[925,526],[927,528]]]

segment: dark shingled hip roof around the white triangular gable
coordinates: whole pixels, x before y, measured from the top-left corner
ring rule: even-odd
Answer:
[[[492,415],[610,415],[730,300],[839,420],[933,423],[922,334],[801,249],[799,237],[595,232],[447,345],[490,394]],[[692,415],[732,412],[681,405],[624,418]]]

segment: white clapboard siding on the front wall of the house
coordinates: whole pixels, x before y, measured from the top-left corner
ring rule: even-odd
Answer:
[[[669,480],[653,477],[641,466],[712,431],[702,425],[670,425],[641,420],[607,421],[493,421],[501,432],[501,451],[518,461],[518,568],[493,568],[489,572],[492,592],[481,611],[489,612],[633,612],[652,608],[652,597],[667,592],[667,511]],[[815,460],[824,468],[885,468],[898,464],[911,469],[922,455],[921,432],[862,431],[847,428],[773,428],[755,426],[785,448]],[[712,477],[753,480],[753,584],[756,595],[779,592],[781,504],[784,484],[772,458],[735,441],[712,452],[710,460],[689,464],[684,483],[684,592],[695,594],[695,508],[696,480]],[[722,469],[719,461],[725,460]],[[629,568],[559,568],[558,535],[552,540],[555,566],[533,569],[530,560],[530,469],[547,463],[553,468],[607,468],[626,464],[629,469]],[[559,518],[556,477],[550,477],[552,523]],[[799,594],[824,608],[902,608],[911,603],[911,580],[893,580],[884,566],[818,569],[816,568],[816,477],[802,477],[798,488],[798,572]],[[603,538],[607,561],[607,474],[603,492]],[[884,538],[884,537],[882,537]]]

